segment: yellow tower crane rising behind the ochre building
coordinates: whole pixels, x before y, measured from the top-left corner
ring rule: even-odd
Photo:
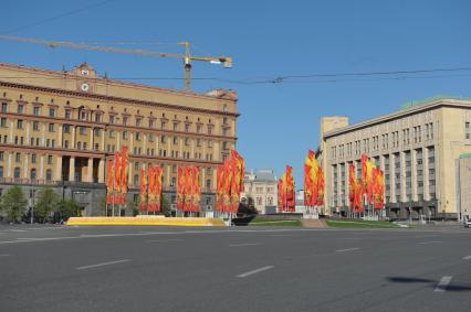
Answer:
[[[0,35],[0,40],[7,40],[7,41],[17,41],[17,42],[23,42],[23,43],[33,43],[33,44],[41,44],[49,47],[70,47],[75,50],[87,50],[87,51],[102,51],[102,52],[114,52],[114,53],[125,53],[125,54],[138,54],[143,56],[150,56],[150,57],[172,57],[172,58],[180,58],[184,61],[185,66],[185,90],[191,89],[191,63],[192,61],[202,61],[202,62],[209,62],[212,64],[222,64],[224,68],[231,68],[232,67],[232,58],[226,57],[226,56],[192,56],[190,54],[190,43],[188,41],[180,42],[180,45],[185,46],[185,55],[182,54],[176,54],[176,53],[161,53],[161,52],[155,52],[155,51],[146,51],[146,50],[139,50],[139,49],[121,49],[121,47],[113,47],[113,46],[95,46],[95,45],[87,45],[82,43],[73,43],[73,42],[66,42],[66,41],[49,41],[49,40],[41,40],[41,39],[31,39],[31,37],[21,37],[21,36],[12,36],[12,35]]]

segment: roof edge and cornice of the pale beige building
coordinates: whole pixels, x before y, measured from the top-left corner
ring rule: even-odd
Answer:
[[[465,107],[471,108],[471,98],[465,97],[453,97],[453,96],[436,96],[420,101],[411,101],[401,106],[401,108],[395,112],[383,115],[376,118],[371,118],[355,125],[335,129],[323,135],[324,138],[331,138],[338,135],[344,135],[354,130],[364,129],[367,127],[384,123],[389,120],[402,118],[408,115],[415,115],[432,108],[449,106],[449,107]]]

